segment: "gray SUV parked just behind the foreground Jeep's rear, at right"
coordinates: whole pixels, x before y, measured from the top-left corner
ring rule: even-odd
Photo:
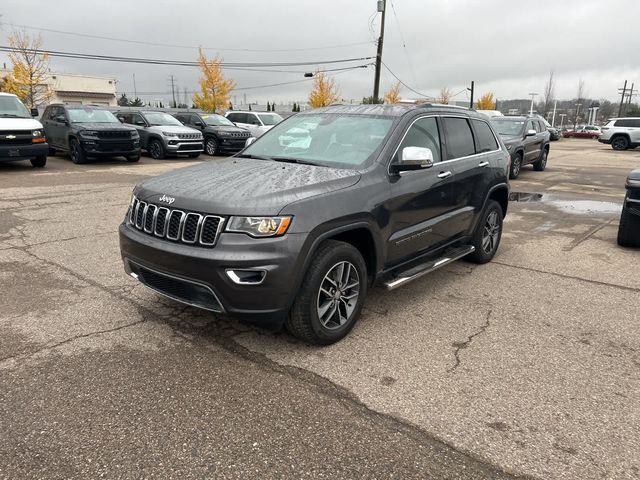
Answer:
[[[518,178],[522,167],[530,163],[538,172],[547,167],[551,135],[543,120],[537,116],[491,117],[491,122],[511,154],[509,178]]]

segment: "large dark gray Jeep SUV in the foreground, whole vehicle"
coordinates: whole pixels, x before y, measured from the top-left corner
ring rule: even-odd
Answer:
[[[136,186],[125,270],[189,305],[333,343],[372,285],[493,258],[508,164],[487,117],[467,109],[300,113],[235,157]]]

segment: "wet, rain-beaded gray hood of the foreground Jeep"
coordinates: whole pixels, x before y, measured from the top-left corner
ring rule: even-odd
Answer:
[[[136,188],[141,200],[219,215],[277,215],[292,202],[355,185],[360,173],[230,157],[165,173]]]

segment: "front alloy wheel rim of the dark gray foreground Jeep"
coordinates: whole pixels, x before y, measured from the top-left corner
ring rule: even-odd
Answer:
[[[358,305],[360,276],[356,267],[347,261],[329,269],[320,283],[317,312],[320,323],[328,330],[346,324]]]

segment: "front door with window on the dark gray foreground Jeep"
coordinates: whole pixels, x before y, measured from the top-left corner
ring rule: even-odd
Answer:
[[[408,128],[394,162],[405,147],[429,148],[434,164],[424,170],[403,172],[391,178],[387,265],[391,267],[445,243],[449,238],[453,201],[453,166],[442,161],[440,128],[436,117],[422,117]]]

